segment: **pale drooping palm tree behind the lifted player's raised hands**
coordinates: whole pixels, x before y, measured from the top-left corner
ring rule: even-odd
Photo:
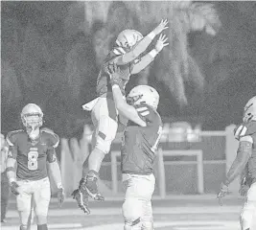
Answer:
[[[187,36],[193,31],[210,35],[218,32],[221,23],[214,5],[192,1],[84,2],[84,9],[87,12],[85,20],[90,25],[93,25],[93,20],[104,22],[104,27],[94,34],[98,63],[102,63],[113,39],[122,30],[134,28],[147,34],[162,18],[168,18],[169,31],[166,34],[170,46],[152,64],[157,69],[155,78],[168,86],[180,105],[187,104],[185,81],[192,82],[198,91],[202,91],[204,77],[190,55]],[[140,74],[137,83],[147,83],[150,73],[146,70]]]

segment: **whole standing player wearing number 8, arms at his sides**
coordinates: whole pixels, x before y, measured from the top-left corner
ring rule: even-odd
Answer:
[[[16,196],[20,230],[30,229],[31,215],[35,209],[37,230],[47,230],[47,214],[51,198],[49,171],[58,187],[58,202],[64,199],[61,176],[56,157],[58,135],[43,124],[43,113],[36,104],[27,104],[21,112],[24,129],[7,135],[9,155],[7,176],[12,193]],[[17,168],[15,170],[15,164]]]

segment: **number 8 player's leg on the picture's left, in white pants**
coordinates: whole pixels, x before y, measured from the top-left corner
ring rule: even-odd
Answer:
[[[20,230],[30,230],[33,217],[33,200],[31,182],[17,181],[19,195],[16,196],[17,211],[20,219]]]

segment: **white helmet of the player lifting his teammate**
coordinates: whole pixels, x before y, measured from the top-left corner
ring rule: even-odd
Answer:
[[[130,90],[127,100],[131,104],[148,104],[156,109],[159,103],[159,94],[149,85],[138,85]]]

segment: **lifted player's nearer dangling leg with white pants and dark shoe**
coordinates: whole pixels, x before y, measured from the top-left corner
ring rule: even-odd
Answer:
[[[105,154],[110,150],[118,127],[114,101],[108,98],[101,98],[93,108],[92,120],[95,125],[95,145],[88,157],[88,173],[84,182],[89,196],[101,199],[102,196],[98,191],[97,180]]]

